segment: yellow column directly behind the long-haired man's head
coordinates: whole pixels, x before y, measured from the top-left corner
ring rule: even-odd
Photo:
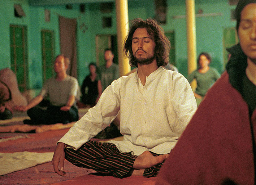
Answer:
[[[128,58],[123,54],[123,42],[129,30],[127,0],[116,0],[116,19],[119,75],[123,76],[131,71]]]

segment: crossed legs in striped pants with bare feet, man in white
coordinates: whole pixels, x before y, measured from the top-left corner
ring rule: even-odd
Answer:
[[[102,175],[123,178],[130,175],[156,176],[168,154],[145,151],[135,156],[121,153],[112,143],[88,141],[80,149],[65,149],[65,158],[76,166],[91,168]]]

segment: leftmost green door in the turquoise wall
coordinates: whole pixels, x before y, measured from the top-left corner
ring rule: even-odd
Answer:
[[[11,69],[16,74],[19,91],[27,89],[27,28],[10,25]]]

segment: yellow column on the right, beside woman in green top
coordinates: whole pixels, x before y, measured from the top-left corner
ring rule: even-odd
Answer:
[[[188,74],[197,67],[196,62],[196,21],[195,21],[195,0],[186,0],[186,21],[187,21],[187,68]],[[191,82],[193,90],[196,88],[196,81]]]

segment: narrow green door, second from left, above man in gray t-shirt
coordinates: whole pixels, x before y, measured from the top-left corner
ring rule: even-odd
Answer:
[[[54,76],[54,35],[51,30],[41,30],[43,82]]]

